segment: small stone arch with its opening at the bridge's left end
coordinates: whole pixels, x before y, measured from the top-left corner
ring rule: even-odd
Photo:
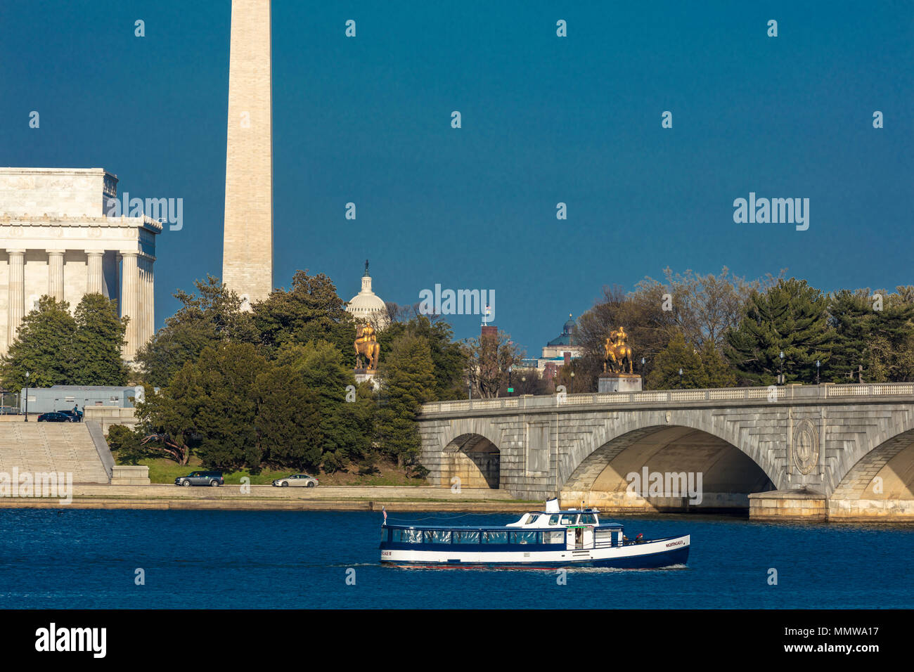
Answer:
[[[441,433],[441,486],[452,487],[454,478],[467,488],[501,485],[501,432],[486,419],[452,421]]]

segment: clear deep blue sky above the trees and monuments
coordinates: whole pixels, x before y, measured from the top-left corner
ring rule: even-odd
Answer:
[[[914,283],[914,4],[431,5],[274,0],[275,285],[325,272],[348,299],[369,258],[399,304],[494,290],[533,355],[604,284],[666,266]],[[184,198],[157,325],[221,273],[229,18],[228,1],[0,4],[0,165],[101,166]],[[750,191],[808,197],[809,229],[734,223]]]

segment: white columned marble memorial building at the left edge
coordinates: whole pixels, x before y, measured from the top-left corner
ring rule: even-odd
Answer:
[[[0,168],[0,354],[44,294],[76,309],[86,293],[130,317],[123,357],[154,334],[155,219],[109,217],[117,176],[103,168]]]

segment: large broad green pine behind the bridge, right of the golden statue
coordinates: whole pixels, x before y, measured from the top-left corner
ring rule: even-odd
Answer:
[[[725,353],[739,378],[771,385],[782,365],[785,382],[814,382],[816,360],[828,361],[834,346],[827,307],[823,293],[795,278],[751,293],[739,327],[726,337]]]

